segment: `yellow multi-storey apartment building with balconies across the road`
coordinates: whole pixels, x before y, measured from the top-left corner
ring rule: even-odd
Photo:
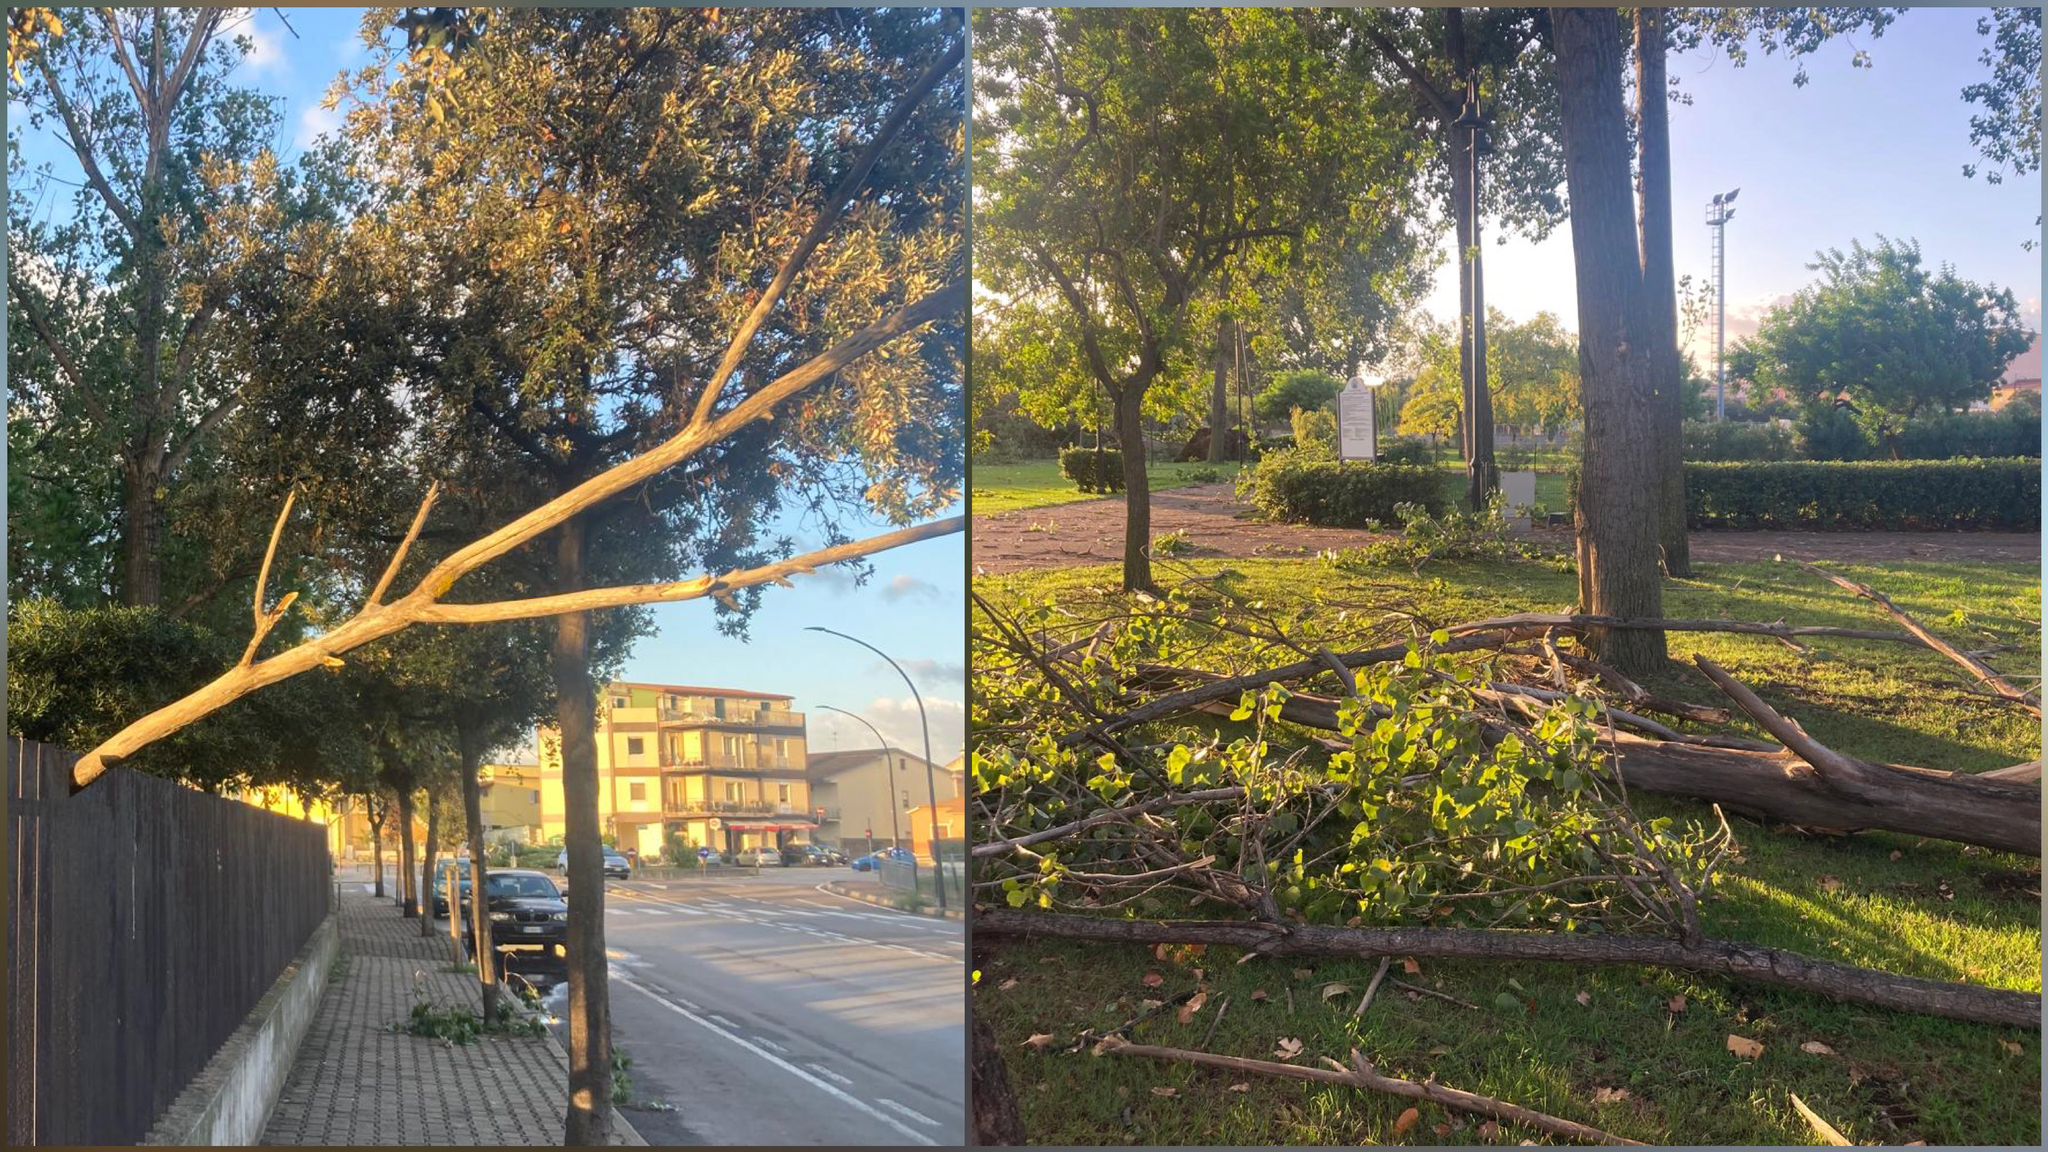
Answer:
[[[731,855],[817,830],[805,722],[791,697],[616,683],[598,693],[598,822],[618,849],[659,859],[670,836]],[[539,732],[541,836],[563,834],[561,738]]]

